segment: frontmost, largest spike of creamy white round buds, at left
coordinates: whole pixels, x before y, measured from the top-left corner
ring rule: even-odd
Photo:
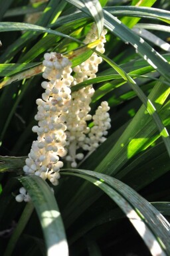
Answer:
[[[43,65],[46,67],[42,76],[49,81],[42,82],[45,89],[42,99],[37,99],[38,112],[33,126],[38,138],[31,146],[29,157],[25,160],[23,171],[26,175],[35,174],[43,180],[50,180],[55,186],[60,178],[59,170],[63,162],[59,156],[66,156],[66,116],[70,105],[71,63],[57,53],[45,53]]]

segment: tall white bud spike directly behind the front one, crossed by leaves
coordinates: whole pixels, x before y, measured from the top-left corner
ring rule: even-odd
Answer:
[[[106,30],[102,31],[100,36],[100,43],[96,47],[96,50],[100,53],[104,53],[104,43],[106,43]],[[92,28],[86,35],[84,43],[92,43],[98,39],[98,31],[96,25],[92,25]],[[98,64],[102,63],[102,58],[98,57],[96,53],[73,68],[75,72],[74,81],[72,86],[83,82],[90,78],[96,77],[96,72],[98,72]],[[84,158],[83,153],[76,153],[82,145],[86,145],[87,134],[90,132],[90,128],[87,125],[87,121],[92,120],[92,116],[88,114],[90,112],[90,102],[94,94],[94,88],[92,85],[81,88],[80,90],[72,93],[72,100],[69,108],[69,118],[67,120],[67,146],[68,155],[66,160],[71,162],[72,168],[76,168],[77,160],[82,160]],[[88,138],[89,139],[89,138]],[[86,146],[85,146],[86,148]],[[83,148],[82,148],[83,149]]]

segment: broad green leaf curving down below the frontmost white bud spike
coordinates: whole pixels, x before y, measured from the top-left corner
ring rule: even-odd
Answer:
[[[38,176],[25,176],[19,178],[19,181],[35,205],[46,241],[47,256],[68,256],[64,225],[50,187]]]

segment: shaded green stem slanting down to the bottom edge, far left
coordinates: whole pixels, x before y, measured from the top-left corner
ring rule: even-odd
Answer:
[[[25,229],[25,226],[27,225],[27,223],[31,217],[31,214],[33,213],[33,209],[34,209],[33,203],[31,203],[31,202],[27,203],[27,205],[25,206],[25,209],[23,210],[23,213],[19,219],[17,227],[15,228],[13,235],[11,236],[11,238],[9,240],[9,243],[7,245],[7,248],[6,248],[3,256],[11,256],[11,254],[13,253],[13,249],[15,248],[15,245],[16,245],[21,233]]]

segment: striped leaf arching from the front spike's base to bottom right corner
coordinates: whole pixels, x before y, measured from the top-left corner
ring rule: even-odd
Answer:
[[[137,192],[106,174],[87,170],[69,170],[66,174],[84,178],[107,193],[126,213],[153,256],[169,255],[168,221]]]

